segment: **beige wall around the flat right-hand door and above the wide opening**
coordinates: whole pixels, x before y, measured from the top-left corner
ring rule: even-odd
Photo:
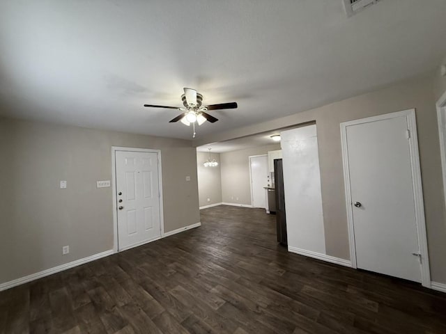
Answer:
[[[444,84],[444,79],[441,82]],[[339,124],[348,120],[415,108],[431,276],[434,281],[446,283],[446,223],[435,108],[436,93],[434,93],[441,90],[443,90],[442,85],[433,79],[432,75],[416,77],[341,102],[215,136],[207,136],[196,144],[224,141],[316,120],[325,246],[328,255],[348,259],[350,255]]]

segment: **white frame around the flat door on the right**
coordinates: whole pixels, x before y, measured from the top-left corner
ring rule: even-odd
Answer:
[[[353,209],[351,206],[351,185],[350,170],[348,168],[348,151],[347,151],[347,127],[367,122],[375,122],[377,120],[387,120],[406,116],[408,120],[408,130],[410,134],[409,152],[410,166],[413,176],[413,196],[415,199],[415,220],[417,224],[418,245],[421,254],[421,278],[424,287],[431,287],[431,272],[429,269],[429,253],[427,250],[426,222],[424,221],[424,202],[420,169],[420,155],[418,152],[417,124],[415,120],[415,109],[398,111],[396,113],[386,113],[360,120],[351,120],[350,122],[341,123],[341,145],[342,145],[342,163],[344,164],[344,186],[346,190],[346,209],[348,221],[348,238],[350,241],[350,260],[352,267],[357,269],[356,264],[356,247],[355,234],[353,228]]]

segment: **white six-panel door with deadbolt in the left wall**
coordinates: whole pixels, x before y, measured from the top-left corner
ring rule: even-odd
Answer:
[[[155,152],[116,151],[118,250],[161,237],[160,191]]]

